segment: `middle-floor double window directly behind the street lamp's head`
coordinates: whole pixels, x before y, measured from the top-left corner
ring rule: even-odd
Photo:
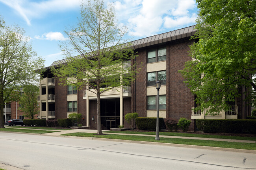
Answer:
[[[166,71],[155,71],[147,73],[147,78],[147,86],[155,86],[156,80],[160,81],[161,85],[166,84]]]

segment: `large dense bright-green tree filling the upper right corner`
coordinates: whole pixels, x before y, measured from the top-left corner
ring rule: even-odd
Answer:
[[[194,61],[181,71],[197,109],[216,114],[239,97],[239,87],[256,90],[256,1],[197,0]]]

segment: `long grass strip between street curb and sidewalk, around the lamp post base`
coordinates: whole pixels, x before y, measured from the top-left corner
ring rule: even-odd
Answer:
[[[205,141],[197,139],[178,139],[178,138],[165,138],[160,137],[160,141],[156,141],[155,137],[148,136],[133,136],[133,135],[95,135],[94,133],[68,133],[63,134],[65,136],[79,136],[79,137],[97,137],[107,139],[123,139],[129,141],[147,141],[147,142],[159,142],[159,143],[175,143],[175,144],[189,144],[198,146],[213,146],[220,148],[235,148],[235,149],[247,149],[256,150],[256,143],[238,143],[238,142],[224,142],[224,141]]]

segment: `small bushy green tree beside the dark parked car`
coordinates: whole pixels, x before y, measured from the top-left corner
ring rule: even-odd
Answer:
[[[34,116],[39,111],[37,103],[37,96],[39,96],[39,87],[33,84],[25,85],[22,90],[22,96],[20,97],[19,104],[22,107],[19,108],[23,113],[24,117],[34,119]]]

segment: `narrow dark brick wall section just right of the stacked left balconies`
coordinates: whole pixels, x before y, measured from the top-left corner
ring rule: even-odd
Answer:
[[[60,86],[59,79],[55,80],[55,118],[67,118],[67,86]]]

